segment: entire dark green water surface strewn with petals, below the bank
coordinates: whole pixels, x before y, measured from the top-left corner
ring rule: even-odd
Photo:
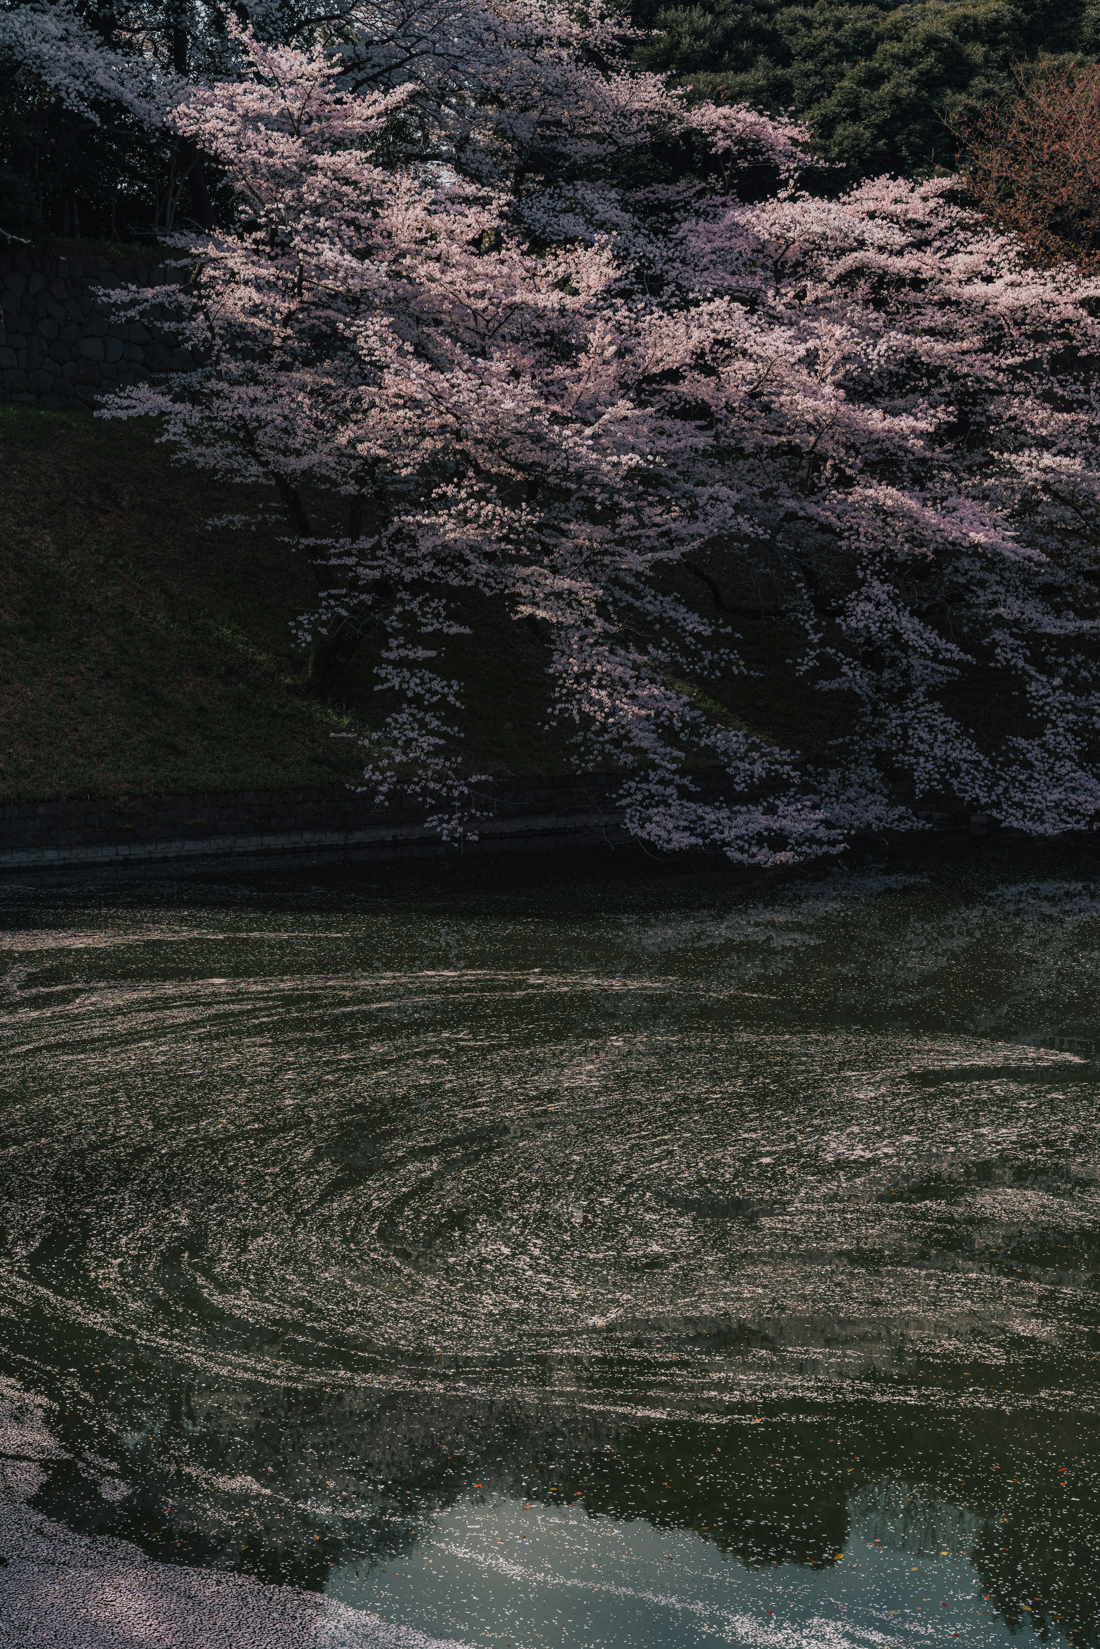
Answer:
[[[1087,869],[0,922],[0,1644],[1100,1642]]]

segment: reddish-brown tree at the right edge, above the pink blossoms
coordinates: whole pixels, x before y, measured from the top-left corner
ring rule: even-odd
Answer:
[[[1100,66],[1016,69],[1018,96],[953,127],[983,211],[1044,262],[1100,267]]]

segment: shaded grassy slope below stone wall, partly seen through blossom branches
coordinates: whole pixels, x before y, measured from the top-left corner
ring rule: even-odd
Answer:
[[[378,721],[371,650],[333,698],[310,689],[290,622],[315,590],[277,524],[208,529],[241,498],[173,465],[152,424],[0,407],[0,800],[355,782],[361,749],[333,734]],[[539,641],[468,618],[477,635],[447,643],[468,770],[564,772]],[[836,699],[792,698],[767,630],[729,701],[820,749]]]

